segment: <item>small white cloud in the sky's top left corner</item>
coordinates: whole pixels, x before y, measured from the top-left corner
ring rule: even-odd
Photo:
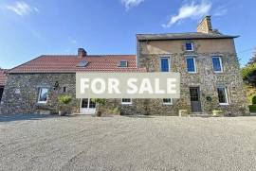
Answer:
[[[34,11],[39,12],[39,9],[31,8],[27,3],[23,1],[16,1],[12,5],[6,5],[5,8],[15,12],[17,15],[20,15],[20,16],[27,15]]]

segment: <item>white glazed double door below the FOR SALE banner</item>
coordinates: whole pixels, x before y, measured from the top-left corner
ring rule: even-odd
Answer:
[[[96,104],[90,98],[82,98],[80,112],[82,114],[94,114],[96,112]]]

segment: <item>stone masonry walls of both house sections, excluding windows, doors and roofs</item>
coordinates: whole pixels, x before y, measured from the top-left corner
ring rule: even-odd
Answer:
[[[247,114],[247,98],[240,76],[234,37],[225,37],[217,30],[212,30],[209,16],[199,24],[197,31],[202,34],[183,34],[189,39],[182,36],[179,39],[170,39],[170,35],[166,35],[166,39],[159,39],[159,35],[153,38],[150,36],[149,39],[137,37],[137,67],[146,68],[146,72],[160,72],[160,59],[168,58],[171,72],[181,74],[179,99],[173,99],[172,104],[168,105],[163,103],[163,99],[132,99],[131,105],[122,105],[121,99],[107,99],[104,112],[112,113],[118,108],[120,114],[178,115],[180,110],[192,113],[190,88],[198,87],[200,114],[211,114],[213,110],[222,110],[225,115]],[[186,51],[186,43],[192,43],[192,51]],[[84,53],[84,56],[86,55]],[[223,71],[220,73],[213,71],[213,56],[221,58]],[[187,72],[188,57],[193,57],[195,60],[195,73]],[[227,88],[228,105],[219,103],[217,92],[219,86]],[[37,102],[39,88],[42,87],[49,90],[46,104]],[[75,89],[75,72],[9,73],[0,111],[2,114],[56,113],[58,97],[68,94],[73,98],[72,112],[79,113],[81,99],[76,99]]]

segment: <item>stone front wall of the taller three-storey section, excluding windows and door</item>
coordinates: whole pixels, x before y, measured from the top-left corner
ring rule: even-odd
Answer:
[[[168,111],[177,114],[178,110],[192,112],[190,87],[200,88],[202,112],[210,114],[212,110],[222,109],[226,115],[242,115],[247,113],[246,94],[243,80],[235,54],[233,40],[199,40],[192,41],[194,51],[185,51],[186,41],[147,41],[139,43],[139,66],[146,67],[149,72],[160,71],[160,57],[170,57],[171,71],[181,74],[181,98],[175,100]],[[211,46],[206,46],[206,44]],[[210,49],[207,52],[206,49]],[[195,74],[187,72],[186,58],[194,56],[196,61]],[[212,56],[222,59],[223,73],[214,73]],[[229,105],[221,106],[218,102],[217,86],[228,88]],[[211,96],[212,101],[206,99]],[[155,100],[151,100],[155,101]],[[156,100],[157,101],[157,100]],[[162,103],[151,102],[152,111],[160,113]],[[164,111],[164,112],[168,112]]]

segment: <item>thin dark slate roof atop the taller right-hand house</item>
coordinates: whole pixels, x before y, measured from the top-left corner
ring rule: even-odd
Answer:
[[[234,39],[239,36],[230,36],[217,33],[165,33],[165,34],[137,34],[139,41],[160,41],[160,40],[196,40],[196,39]]]

